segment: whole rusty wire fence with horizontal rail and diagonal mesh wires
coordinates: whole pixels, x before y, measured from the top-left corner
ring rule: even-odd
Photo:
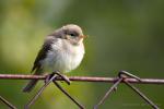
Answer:
[[[85,109],[85,106],[79,102],[79,100],[74,99],[63,87],[60,86],[58,81],[65,81],[68,85],[70,84],[68,80],[66,80],[59,73],[52,73],[49,75],[23,75],[23,74],[0,74],[0,80],[43,80],[45,81],[44,86],[36,93],[36,95],[24,105],[24,109],[28,109],[37,98],[42,95],[43,90],[49,85],[49,83],[54,83],[70,100],[72,100],[80,109]],[[150,105],[153,109],[160,109],[160,107],[154,104],[149,97],[147,97],[139,88],[137,88],[133,84],[164,84],[164,80],[160,78],[140,78],[131,73],[126,71],[120,71],[117,77],[95,77],[95,76],[69,76],[70,81],[75,82],[102,82],[102,83],[113,83],[113,86],[108,88],[108,90],[99,98],[99,101],[93,106],[94,109],[98,109],[103,102],[108,98],[109,95],[117,90],[117,87],[120,83],[126,84],[129,88],[131,88],[134,93],[137,93],[148,105]],[[17,109],[16,106],[12,105],[10,101],[0,96],[0,100],[5,104],[11,109]]]

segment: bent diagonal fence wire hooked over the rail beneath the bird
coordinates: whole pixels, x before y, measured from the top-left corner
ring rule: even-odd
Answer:
[[[67,95],[77,106],[79,106],[80,109],[84,109],[84,107],[82,105],[80,105],[75,99],[73,99],[57,82],[56,78],[57,77],[61,77],[61,80],[63,80],[68,85],[70,85],[70,80],[66,76],[60,74],[59,72],[52,72],[51,74],[47,75],[46,80],[45,80],[45,84],[44,86],[37,92],[37,94],[30,100],[30,102],[27,102],[27,105],[25,105],[24,109],[28,109],[31,105],[33,105],[36,99],[40,96],[40,94],[43,93],[43,90],[51,83],[54,82],[55,85],[65,94]]]

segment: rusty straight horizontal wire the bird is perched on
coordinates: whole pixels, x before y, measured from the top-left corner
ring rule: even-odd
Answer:
[[[25,74],[0,74],[0,80],[45,80],[47,75],[25,75]],[[118,77],[101,77],[101,76],[68,76],[70,81],[78,82],[106,82],[114,83]],[[61,77],[57,77],[57,81],[63,81]],[[164,78],[141,78],[138,81],[136,78],[126,78],[129,83],[137,84],[164,84]]]

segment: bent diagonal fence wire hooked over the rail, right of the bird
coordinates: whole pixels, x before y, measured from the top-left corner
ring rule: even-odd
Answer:
[[[140,97],[142,97],[153,109],[159,109],[159,107],[153,104],[145,95],[143,95],[137,87],[134,87],[133,85],[131,85],[129,82],[126,81],[126,78],[128,77],[132,77],[132,78],[136,78],[138,81],[141,82],[141,78],[129,73],[129,72],[126,72],[126,71],[120,71],[118,73],[118,78],[117,81],[114,83],[114,85],[107,90],[107,93],[105,94],[105,96],[99,100],[99,102],[97,105],[94,106],[94,109],[98,109],[98,106],[102,105],[106,98],[109,96],[109,94],[113,92],[113,90],[116,90],[117,89],[117,86],[120,82],[124,82],[126,83],[126,85],[128,85],[133,92],[136,92]]]

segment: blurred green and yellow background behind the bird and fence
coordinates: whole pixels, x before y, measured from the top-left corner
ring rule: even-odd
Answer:
[[[65,24],[80,25],[89,38],[81,65],[68,75],[117,76],[126,70],[140,77],[164,77],[163,0],[0,0],[0,73],[31,74],[44,37]],[[0,95],[22,109],[43,82],[22,93],[27,81],[0,80]],[[61,85],[92,107],[112,84]],[[164,108],[164,86],[137,85]],[[32,109],[78,109],[52,84]],[[151,109],[121,84],[99,109]],[[7,107],[0,102],[0,109]]]

